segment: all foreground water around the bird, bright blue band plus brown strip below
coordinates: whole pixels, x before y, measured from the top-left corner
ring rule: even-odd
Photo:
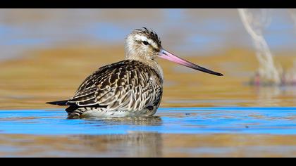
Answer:
[[[295,157],[296,108],[160,108],[156,117],[66,119],[1,110],[2,157]]]

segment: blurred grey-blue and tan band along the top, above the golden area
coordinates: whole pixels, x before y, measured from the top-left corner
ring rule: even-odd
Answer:
[[[122,45],[134,29],[155,30],[164,46],[182,56],[204,56],[233,47],[252,49],[232,9],[1,9],[1,59],[23,51],[72,44]],[[287,9],[274,9],[265,37],[273,51],[295,51]],[[99,56],[99,55],[98,55]]]

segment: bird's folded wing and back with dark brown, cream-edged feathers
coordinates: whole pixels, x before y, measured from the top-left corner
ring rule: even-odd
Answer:
[[[161,89],[162,80],[155,70],[135,60],[123,60],[99,68],[87,77],[68,103],[106,106],[109,110],[140,110],[160,103]]]

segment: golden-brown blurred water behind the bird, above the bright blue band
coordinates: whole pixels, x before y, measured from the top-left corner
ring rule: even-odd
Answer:
[[[53,108],[44,103],[73,96],[85,77],[102,65],[122,60],[123,53],[123,46],[69,46],[38,49],[25,58],[1,62],[0,108]],[[292,56],[276,58],[287,68],[292,65]],[[225,76],[207,75],[159,60],[165,77],[161,107],[295,106],[294,87],[247,85],[257,68],[252,51],[230,49],[187,59]],[[240,65],[231,67],[237,63]]]

